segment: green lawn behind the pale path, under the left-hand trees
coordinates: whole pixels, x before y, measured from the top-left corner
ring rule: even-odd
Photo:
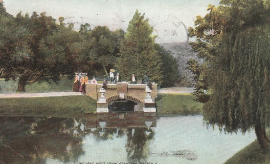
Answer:
[[[5,81],[0,79],[0,87],[2,93],[14,93],[17,90],[18,81]],[[70,80],[67,77],[62,77],[58,83],[49,80],[49,83],[46,81],[36,82],[31,85],[26,86],[26,93],[35,93],[35,92],[65,92],[72,91],[73,88],[73,79]]]

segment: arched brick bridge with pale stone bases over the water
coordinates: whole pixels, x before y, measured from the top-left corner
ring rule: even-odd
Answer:
[[[108,84],[102,96],[102,84],[87,84],[86,95],[97,100],[97,112],[108,112],[108,104],[115,100],[129,100],[137,104],[137,111],[156,112],[154,98],[158,96],[158,87],[152,84],[151,92],[146,92],[144,84],[128,84],[126,82]],[[103,98],[102,98],[103,97]]]

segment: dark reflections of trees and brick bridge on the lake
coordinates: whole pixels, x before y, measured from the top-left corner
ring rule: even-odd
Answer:
[[[109,140],[125,135],[127,159],[142,161],[149,156],[155,126],[155,115],[138,112],[81,118],[0,117],[0,163],[46,163],[47,159],[78,163],[87,151],[83,150],[86,136]]]

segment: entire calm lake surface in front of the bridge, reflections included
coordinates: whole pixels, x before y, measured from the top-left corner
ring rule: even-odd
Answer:
[[[255,139],[207,128],[201,115],[3,116],[0,163],[223,163]]]

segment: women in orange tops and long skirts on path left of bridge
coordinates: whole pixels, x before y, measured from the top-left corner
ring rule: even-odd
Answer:
[[[87,73],[76,73],[75,80],[73,83],[73,92],[86,93],[85,84],[88,83]]]

